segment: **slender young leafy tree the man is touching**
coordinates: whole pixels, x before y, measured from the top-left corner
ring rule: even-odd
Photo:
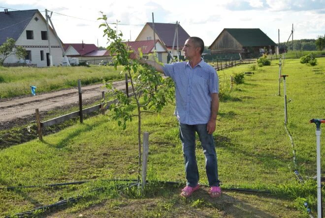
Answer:
[[[156,72],[149,65],[140,65],[138,61],[130,59],[132,57],[142,57],[141,49],[133,51],[122,40],[123,34],[117,33],[107,23],[107,17],[102,13],[102,17],[98,20],[103,20],[104,23],[99,25],[104,27],[104,35],[107,37],[109,46],[107,50],[113,56],[113,64],[115,69],[118,65],[124,66],[121,73],[128,73],[130,85],[132,88],[132,97],[112,87],[112,83],[106,84],[108,90],[107,95],[111,99],[117,99],[117,103],[111,104],[111,118],[118,120],[118,125],[126,128],[127,121],[132,121],[132,117],[138,119],[138,184],[140,183],[141,173],[141,115],[143,113],[154,113],[161,111],[168,103],[174,99],[174,83],[170,78],[162,78],[162,74]],[[137,53],[137,54],[135,54]],[[136,112],[133,111],[136,108]]]

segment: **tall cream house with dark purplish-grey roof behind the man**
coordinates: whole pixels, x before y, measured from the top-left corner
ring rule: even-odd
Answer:
[[[152,23],[146,23],[141,30],[140,34],[136,37],[135,41],[153,40],[154,31]],[[166,24],[166,23],[155,23],[155,38],[162,41],[164,46],[167,48],[168,52],[171,54],[173,47],[174,35],[175,35],[176,24]],[[186,39],[190,35],[182,28],[181,25],[178,26],[178,48],[179,54],[184,56],[182,51]],[[177,41],[175,39],[173,56],[177,56],[176,52]]]

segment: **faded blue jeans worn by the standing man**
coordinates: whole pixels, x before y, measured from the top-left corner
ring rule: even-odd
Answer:
[[[207,124],[179,124],[179,137],[183,145],[187,185],[195,187],[199,180],[195,156],[195,132],[200,139],[205,155],[205,170],[210,186],[219,186],[217,153],[212,134],[206,130]]]

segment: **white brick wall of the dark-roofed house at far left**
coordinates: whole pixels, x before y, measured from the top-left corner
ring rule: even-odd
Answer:
[[[34,18],[37,17],[36,21]],[[33,39],[27,39],[27,31],[33,32]],[[48,40],[42,40],[41,31],[46,31],[46,22],[40,13],[35,13],[30,23],[26,26],[22,34],[16,41],[16,45],[24,47],[27,51],[31,51],[32,64],[36,64],[37,67],[46,67],[46,53],[49,53]],[[50,42],[51,42],[51,55],[54,66],[62,64],[62,50],[60,48],[60,42],[55,37],[54,33],[50,30]],[[41,60],[41,51],[43,51],[43,60]],[[5,63],[17,63],[19,60],[15,55],[11,55],[5,60]]]

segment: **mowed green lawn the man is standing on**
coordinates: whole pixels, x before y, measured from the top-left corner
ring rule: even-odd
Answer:
[[[292,134],[298,170],[293,174],[292,145],[284,128],[283,89],[278,96],[278,66],[257,67],[236,85],[220,104],[214,133],[224,194],[210,199],[202,188],[189,199],[179,196],[180,186],[149,186],[144,196],[109,179],[137,178],[137,122],[125,131],[108,115],[84,120],[37,140],[0,151],[0,184],[35,185],[85,181],[81,185],[0,190],[0,216],[49,205],[82,195],[77,203],[50,212],[53,217],[308,217],[307,201],[316,215],[316,136],[311,118],[325,117],[325,58],[309,67],[286,60],[288,129]],[[252,71],[242,65],[219,72]],[[283,87],[283,83],[281,83]],[[149,181],[185,182],[178,123],[173,105],[161,114],[145,115],[142,130],[150,132]],[[325,142],[322,135],[322,144]],[[322,150],[322,156],[325,151]],[[197,141],[200,183],[207,184],[204,156]],[[324,161],[322,162],[324,169]],[[123,182],[117,182],[123,183]],[[124,183],[125,184],[125,183]],[[100,191],[95,188],[104,187]],[[228,187],[270,190],[272,195],[231,192]]]

